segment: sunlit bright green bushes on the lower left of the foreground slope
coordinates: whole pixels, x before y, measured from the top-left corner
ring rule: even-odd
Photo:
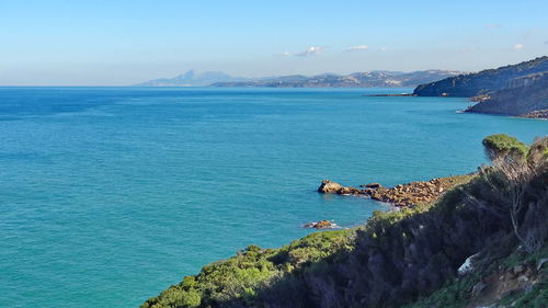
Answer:
[[[335,251],[352,250],[355,229],[311,233],[281,249],[249,246],[236,256],[206,265],[141,307],[208,307],[215,303],[242,300],[252,305],[256,289],[297,271],[318,270]]]

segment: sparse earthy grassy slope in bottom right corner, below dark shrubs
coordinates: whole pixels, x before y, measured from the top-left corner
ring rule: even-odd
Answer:
[[[498,260],[477,255],[458,280],[404,308],[546,308],[547,255],[548,248],[533,254],[516,250]]]

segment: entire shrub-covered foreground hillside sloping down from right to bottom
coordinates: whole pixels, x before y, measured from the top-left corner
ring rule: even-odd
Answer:
[[[483,145],[493,167],[433,204],[281,249],[249,246],[141,308],[546,307],[548,138]]]

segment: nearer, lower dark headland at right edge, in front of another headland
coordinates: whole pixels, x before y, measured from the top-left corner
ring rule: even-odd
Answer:
[[[543,113],[548,112],[548,72],[512,79],[506,88],[479,100],[467,112],[545,117]]]

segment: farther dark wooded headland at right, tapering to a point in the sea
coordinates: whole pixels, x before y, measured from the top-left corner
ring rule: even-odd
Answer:
[[[421,84],[414,89],[413,93],[419,96],[471,98],[506,88],[512,79],[543,71],[548,71],[548,56]]]

